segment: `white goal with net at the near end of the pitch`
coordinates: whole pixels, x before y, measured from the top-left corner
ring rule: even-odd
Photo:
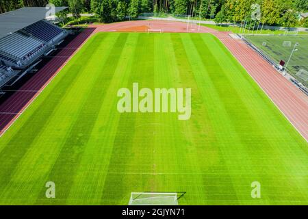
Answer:
[[[178,205],[176,192],[131,192],[129,205]]]

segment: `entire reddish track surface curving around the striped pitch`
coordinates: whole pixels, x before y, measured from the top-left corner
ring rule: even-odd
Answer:
[[[148,29],[162,29],[164,32],[188,31],[190,33],[214,34],[231,51],[242,66],[246,68],[251,77],[268,94],[270,99],[277,105],[286,118],[290,120],[299,133],[308,140],[308,96],[296,88],[290,81],[287,81],[283,75],[278,73],[277,70],[270,66],[268,62],[242,42],[242,40],[231,38],[229,36],[231,32],[219,32],[209,27],[198,27],[196,24],[190,23],[188,25],[187,23],[177,21],[127,21],[107,25],[90,25],[90,31],[84,31],[73,42],[70,42],[67,48],[79,47],[92,34],[92,31],[144,32],[148,31]],[[71,56],[74,52],[75,50],[68,53],[68,49],[64,49],[57,56]],[[67,58],[53,58],[53,60],[36,73],[20,90],[42,91],[57,72],[60,71],[62,66],[66,64],[67,60]],[[0,105],[0,130],[2,130],[0,133],[3,133],[10,127],[39,92],[35,92],[34,95],[31,95],[31,92],[16,92]],[[12,112],[14,114],[10,114]]]

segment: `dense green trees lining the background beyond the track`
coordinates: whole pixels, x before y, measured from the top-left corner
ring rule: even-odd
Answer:
[[[0,0],[0,13],[47,3],[68,6],[66,13],[72,13],[76,19],[83,12],[93,12],[100,22],[105,23],[137,18],[142,13],[192,16],[214,19],[216,23],[242,23],[251,21],[251,14],[259,12],[261,16],[257,19],[265,25],[308,27],[308,19],[300,19],[300,13],[308,12],[307,0]]]

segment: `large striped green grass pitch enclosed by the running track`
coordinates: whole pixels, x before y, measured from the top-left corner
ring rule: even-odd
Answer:
[[[133,82],[191,88],[190,120],[120,114],[118,89]],[[0,204],[127,205],[131,192],[180,191],[179,205],[307,205],[307,146],[214,36],[99,33],[0,138]]]

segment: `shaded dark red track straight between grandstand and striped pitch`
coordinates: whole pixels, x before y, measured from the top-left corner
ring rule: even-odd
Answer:
[[[0,136],[14,123],[23,110],[42,92],[47,84],[57,75],[61,68],[73,57],[75,52],[94,33],[94,28],[88,28],[79,34],[45,66],[29,79],[12,96],[0,105]]]

